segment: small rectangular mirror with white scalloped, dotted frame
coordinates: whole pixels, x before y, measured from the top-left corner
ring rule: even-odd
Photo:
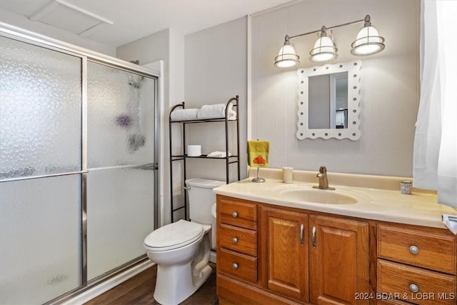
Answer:
[[[362,61],[300,68],[297,139],[360,139]]]

